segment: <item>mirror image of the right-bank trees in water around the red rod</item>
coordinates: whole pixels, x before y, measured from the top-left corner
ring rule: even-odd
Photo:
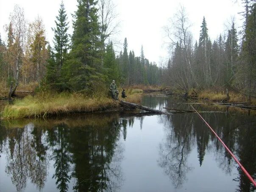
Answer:
[[[244,167],[256,178],[256,129],[255,117],[239,114],[203,114],[223,142],[233,151]],[[186,181],[187,173],[193,170],[187,157],[196,146],[198,163],[203,164],[206,151],[213,152],[218,166],[227,174],[238,165],[232,160],[223,145],[217,140],[196,114],[175,114],[161,116],[165,125],[166,138],[160,144],[159,166],[170,177],[173,185],[180,188]],[[203,175],[201,175],[203,176]],[[253,184],[239,169],[234,178],[239,182],[237,191],[253,191]]]

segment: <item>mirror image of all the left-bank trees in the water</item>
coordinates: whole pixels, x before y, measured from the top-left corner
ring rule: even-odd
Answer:
[[[52,178],[61,192],[69,190],[71,179],[75,181],[72,191],[116,191],[123,180],[123,147],[117,145],[121,125],[124,121],[120,123],[113,115],[37,120],[23,128],[2,125],[0,144],[6,154],[6,173],[17,191],[24,191],[28,179],[41,190],[52,160]]]

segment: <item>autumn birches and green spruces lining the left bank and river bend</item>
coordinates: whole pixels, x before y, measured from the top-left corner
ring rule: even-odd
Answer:
[[[53,28],[53,47],[46,40],[42,19],[37,17],[28,24],[24,10],[14,7],[6,26],[6,44],[0,38],[0,77],[8,84],[15,83],[13,94],[19,82],[38,82],[56,91],[86,92],[97,92],[112,80],[123,85],[161,83],[161,70],[144,57],[143,48],[140,57],[134,52],[128,56],[125,39],[123,53],[116,56],[108,39],[118,27],[111,23],[116,17],[114,4],[111,0],[97,3],[78,0],[70,36],[62,2]]]

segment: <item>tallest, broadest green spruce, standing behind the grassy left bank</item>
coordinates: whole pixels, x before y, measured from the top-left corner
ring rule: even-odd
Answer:
[[[96,3],[94,0],[78,0],[74,15],[72,49],[62,69],[67,88],[74,91],[94,89],[95,81],[104,78],[100,66]]]

